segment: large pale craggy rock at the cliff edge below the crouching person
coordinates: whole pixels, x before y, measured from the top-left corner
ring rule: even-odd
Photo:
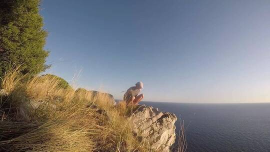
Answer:
[[[132,113],[134,132],[149,142],[154,151],[165,152],[175,141],[177,117],[173,113],[159,111],[157,108],[138,105]]]

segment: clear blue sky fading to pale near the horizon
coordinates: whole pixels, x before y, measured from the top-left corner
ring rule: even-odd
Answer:
[[[144,100],[270,101],[270,0],[42,0],[47,63]]]

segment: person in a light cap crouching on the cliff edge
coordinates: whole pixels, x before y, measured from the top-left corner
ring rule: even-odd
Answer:
[[[143,88],[143,83],[141,81],[137,82],[135,86],[129,87],[124,93],[123,100],[126,102],[126,105],[137,104],[144,96],[139,94]]]

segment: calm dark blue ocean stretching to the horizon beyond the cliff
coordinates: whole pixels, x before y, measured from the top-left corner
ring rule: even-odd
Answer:
[[[270,151],[270,103],[146,102],[184,120],[187,152]]]

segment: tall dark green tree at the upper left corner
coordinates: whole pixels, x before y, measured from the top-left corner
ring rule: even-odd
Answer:
[[[44,71],[48,51],[47,32],[42,29],[39,0],[0,0],[0,77],[10,65],[20,65],[21,73]]]

